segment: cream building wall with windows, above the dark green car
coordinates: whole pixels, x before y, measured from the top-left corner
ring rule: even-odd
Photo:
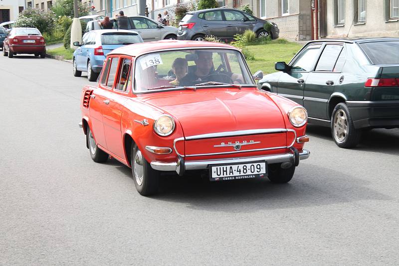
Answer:
[[[326,37],[399,36],[399,0],[327,0],[326,9]]]

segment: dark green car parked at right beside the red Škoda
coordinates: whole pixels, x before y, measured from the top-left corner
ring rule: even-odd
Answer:
[[[258,88],[304,106],[342,148],[364,129],[399,128],[399,38],[311,41],[275,69]]]

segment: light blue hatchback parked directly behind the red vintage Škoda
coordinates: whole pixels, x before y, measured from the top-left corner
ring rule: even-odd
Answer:
[[[96,81],[103,68],[105,57],[112,50],[133,43],[143,42],[139,33],[131,30],[101,29],[83,35],[82,43],[73,53],[73,75],[80,77],[87,72],[89,81]]]

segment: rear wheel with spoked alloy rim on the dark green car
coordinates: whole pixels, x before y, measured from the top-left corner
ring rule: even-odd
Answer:
[[[354,148],[361,139],[362,131],[355,129],[348,106],[339,103],[331,115],[331,134],[341,148]]]

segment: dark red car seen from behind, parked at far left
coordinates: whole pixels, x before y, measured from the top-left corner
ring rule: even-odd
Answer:
[[[3,41],[3,55],[34,54],[46,57],[46,43],[37,28],[12,28]]]

